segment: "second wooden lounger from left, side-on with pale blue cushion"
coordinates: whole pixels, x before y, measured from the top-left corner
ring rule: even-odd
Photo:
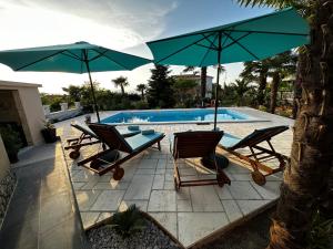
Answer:
[[[108,148],[79,162],[78,166],[83,166],[99,175],[113,170],[113,178],[115,180],[120,180],[124,175],[123,168],[120,167],[121,164],[154,144],[158,144],[158,148],[161,151],[160,142],[164,137],[163,133],[158,132],[148,135],[137,134],[131,137],[123,137],[114,126],[105,124],[89,124],[89,127],[102,143],[108,145]],[[114,152],[122,152],[125,155],[115,158],[113,162],[105,159],[109,154],[114,154]],[[88,163],[90,165],[87,165]]]

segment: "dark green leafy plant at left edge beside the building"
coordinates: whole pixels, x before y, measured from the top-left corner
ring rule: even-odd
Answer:
[[[0,134],[11,164],[19,160],[18,153],[22,146],[20,134],[10,127],[1,127]]]

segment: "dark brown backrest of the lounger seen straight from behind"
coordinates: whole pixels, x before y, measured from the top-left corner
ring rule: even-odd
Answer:
[[[196,131],[174,134],[175,158],[204,157],[215,152],[223,132]]]

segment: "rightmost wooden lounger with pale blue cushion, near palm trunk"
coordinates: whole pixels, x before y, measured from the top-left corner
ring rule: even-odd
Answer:
[[[224,133],[224,136],[219,143],[219,147],[235,155],[242,160],[250,163],[253,172],[251,173],[254,183],[258,185],[264,185],[266,183],[265,176],[272,175],[274,173],[284,169],[287,157],[275,152],[273,145],[271,144],[271,138],[284,131],[289,129],[287,126],[274,126],[269,128],[255,129],[250,135],[244,138],[239,138],[236,136]],[[266,142],[269,148],[260,146],[260,143]],[[250,148],[249,155],[243,155],[236,149]],[[264,162],[278,159],[280,165],[278,168],[272,168],[264,165]]]

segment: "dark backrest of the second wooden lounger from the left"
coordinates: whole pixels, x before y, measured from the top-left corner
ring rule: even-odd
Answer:
[[[97,134],[99,139],[102,143],[105,143],[110,148],[132,153],[133,149],[114,126],[107,124],[89,124],[89,127]]]

